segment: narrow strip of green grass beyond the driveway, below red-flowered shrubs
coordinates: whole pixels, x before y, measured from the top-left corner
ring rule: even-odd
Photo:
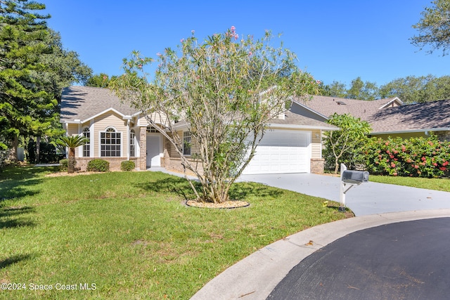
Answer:
[[[443,190],[444,192],[450,192],[449,178],[418,178],[371,175],[369,176],[368,180],[378,183],[406,185],[412,186],[413,188],[427,188],[428,190]]]

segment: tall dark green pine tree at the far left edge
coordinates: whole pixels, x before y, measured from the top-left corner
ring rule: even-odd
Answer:
[[[49,15],[37,13],[44,8],[28,0],[0,1],[0,135],[15,159],[19,137],[49,126],[42,114],[57,105],[30,76],[44,70],[39,56],[51,52],[44,43]]]

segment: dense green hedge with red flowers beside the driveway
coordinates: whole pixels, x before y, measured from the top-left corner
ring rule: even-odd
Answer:
[[[450,143],[430,138],[371,138],[359,160],[372,174],[392,176],[449,176]]]

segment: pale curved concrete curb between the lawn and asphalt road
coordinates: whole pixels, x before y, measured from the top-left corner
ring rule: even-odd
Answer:
[[[403,211],[359,216],[315,226],[269,244],[227,268],[191,299],[266,299],[294,266],[340,237],[390,223],[448,216],[450,209]]]

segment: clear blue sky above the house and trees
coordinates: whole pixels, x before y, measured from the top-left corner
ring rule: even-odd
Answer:
[[[281,33],[298,66],[330,84],[361,77],[383,85],[409,75],[449,75],[450,56],[411,45],[411,25],[430,0],[41,0],[63,46],[94,73],[121,74],[138,50],[155,58],[195,30],[198,39],[232,25],[240,36]]]

